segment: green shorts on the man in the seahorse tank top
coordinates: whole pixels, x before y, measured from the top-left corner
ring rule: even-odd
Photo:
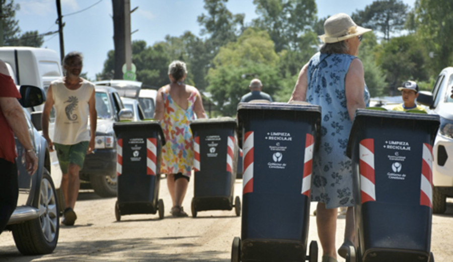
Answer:
[[[67,174],[69,163],[84,167],[85,156],[88,150],[88,141],[83,141],[75,145],[61,145],[53,143],[57,152],[58,162],[60,164],[61,172]]]

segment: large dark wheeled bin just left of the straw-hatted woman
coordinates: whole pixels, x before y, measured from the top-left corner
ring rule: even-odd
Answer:
[[[243,209],[232,261],[317,261],[307,256],[312,159],[321,107],[308,103],[240,103]]]

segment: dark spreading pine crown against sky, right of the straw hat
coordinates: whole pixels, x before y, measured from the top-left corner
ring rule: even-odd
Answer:
[[[358,25],[380,31],[389,41],[391,33],[404,29],[408,8],[401,0],[376,0],[351,18]]]

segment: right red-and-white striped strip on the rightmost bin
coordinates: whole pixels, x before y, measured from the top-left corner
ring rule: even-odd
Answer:
[[[432,208],[432,147],[423,143],[420,205]]]

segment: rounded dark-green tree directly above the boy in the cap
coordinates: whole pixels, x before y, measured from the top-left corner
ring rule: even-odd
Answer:
[[[386,74],[390,94],[396,94],[404,81],[428,80],[427,59],[424,43],[414,35],[395,37],[383,44],[377,60]]]

